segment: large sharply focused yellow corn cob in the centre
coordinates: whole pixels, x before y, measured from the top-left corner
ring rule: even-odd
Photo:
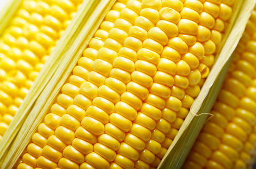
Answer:
[[[208,76],[232,3],[117,2],[17,168],[157,167]]]

